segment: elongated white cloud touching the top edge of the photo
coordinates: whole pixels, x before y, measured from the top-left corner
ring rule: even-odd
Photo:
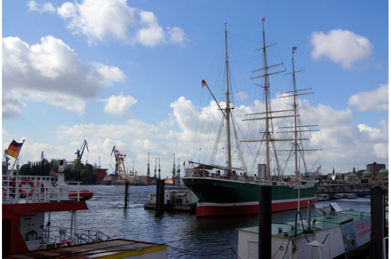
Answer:
[[[89,44],[113,40],[154,47],[168,41],[183,46],[187,41],[183,29],[164,30],[153,12],[132,8],[126,0],[65,2],[57,12],[66,27],[73,34],[86,36]]]

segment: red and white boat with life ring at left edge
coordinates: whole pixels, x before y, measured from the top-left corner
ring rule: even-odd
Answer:
[[[74,190],[58,176],[2,175],[2,254],[62,247],[103,240],[96,234],[80,234],[78,211],[88,210],[88,190]],[[70,212],[70,225],[56,227],[53,213]],[[88,232],[90,233],[90,232]],[[93,232],[91,232],[93,233]]]

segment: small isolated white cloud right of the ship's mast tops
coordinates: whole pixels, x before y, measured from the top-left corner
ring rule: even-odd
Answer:
[[[311,53],[314,60],[325,57],[345,68],[372,55],[369,39],[348,30],[333,29],[327,34],[313,32],[310,42],[314,47]]]

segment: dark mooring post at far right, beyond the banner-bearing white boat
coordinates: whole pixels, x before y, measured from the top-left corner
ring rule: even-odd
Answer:
[[[380,186],[370,189],[371,258],[381,259],[383,254],[383,234],[385,231],[384,190]]]

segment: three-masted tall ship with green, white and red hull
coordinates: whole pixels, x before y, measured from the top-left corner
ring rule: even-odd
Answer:
[[[293,89],[280,95],[280,98],[285,99],[284,104],[289,102],[289,107],[284,110],[273,110],[271,108],[269,76],[282,73],[285,70],[275,71],[274,69],[277,69],[276,67],[281,64],[269,65],[267,63],[266,49],[274,44],[266,45],[265,43],[264,19],[262,19],[262,40],[262,47],[259,51],[262,52],[260,56],[263,67],[253,70],[251,79],[258,81],[254,85],[262,90],[259,96],[262,96],[264,100],[257,102],[260,104],[261,110],[245,114],[242,120],[248,125],[261,122],[257,127],[248,126],[250,135],[253,138],[258,137],[258,139],[239,141],[239,127],[233,116],[234,107],[232,99],[230,99],[232,86],[230,86],[226,27],[225,103],[217,102],[206,81],[202,80],[202,88],[204,86],[208,88],[218,109],[221,110],[222,121],[218,128],[217,140],[211,152],[210,162],[189,161],[186,176],[182,178],[184,184],[198,197],[196,216],[257,214],[259,213],[259,189],[262,185],[272,187],[272,211],[296,209],[306,207],[308,203],[311,205],[315,203],[318,181],[313,176],[319,172],[320,167],[315,168],[313,165],[312,169],[315,169],[309,173],[311,171],[306,166],[305,162],[307,161],[304,159],[304,153],[315,149],[304,148],[305,140],[308,139],[304,134],[316,125],[303,126],[300,122],[298,96],[305,94],[308,89],[296,89],[295,74],[298,71],[295,71],[293,64],[293,53],[296,48],[292,48],[293,72],[290,73],[293,75]],[[274,124],[279,124],[279,127],[277,128]],[[241,129],[241,131],[244,130]],[[219,144],[219,139],[223,138],[222,131],[226,133],[226,146],[223,148]],[[258,136],[260,133],[261,139]],[[282,133],[284,137],[278,137],[279,133]],[[288,137],[288,135],[290,136]],[[231,145],[232,139],[236,143],[235,149]],[[242,143],[248,144],[247,147],[250,145],[253,147],[251,160],[254,161],[252,167],[254,173],[249,173],[251,170],[247,169],[241,148]],[[255,143],[257,144],[255,145]],[[285,143],[285,146],[280,143]],[[225,161],[220,160],[223,165],[215,162],[217,150],[224,150],[226,154]],[[233,165],[233,158],[237,160],[238,165]],[[291,162],[288,163],[288,161]],[[288,174],[292,174],[292,176],[286,176]]]

